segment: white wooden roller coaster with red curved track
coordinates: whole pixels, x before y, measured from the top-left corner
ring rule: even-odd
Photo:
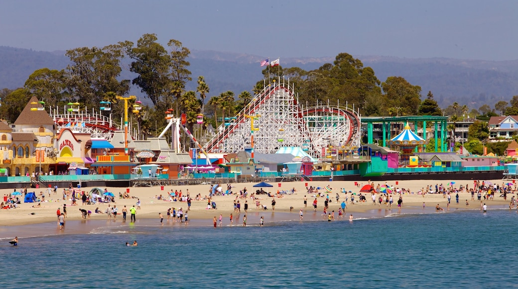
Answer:
[[[301,107],[293,86],[282,80],[266,86],[235,117],[225,118],[204,149],[232,153],[253,144],[255,152],[275,153],[280,147],[302,147],[318,158],[329,146],[358,147],[360,124],[359,114],[349,107]]]

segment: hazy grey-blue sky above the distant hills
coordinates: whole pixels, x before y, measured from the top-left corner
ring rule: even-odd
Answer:
[[[0,46],[104,47],[156,34],[261,57],[518,59],[518,1],[3,0]]]

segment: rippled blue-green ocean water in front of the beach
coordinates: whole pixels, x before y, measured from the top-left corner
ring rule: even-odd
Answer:
[[[349,221],[110,225],[0,244],[2,287],[516,287],[515,210]],[[124,243],[138,241],[138,247]]]

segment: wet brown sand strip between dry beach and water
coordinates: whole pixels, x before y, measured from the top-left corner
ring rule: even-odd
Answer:
[[[495,210],[510,210],[503,205],[494,204],[488,209],[488,212]],[[422,208],[422,207],[411,207],[407,206],[399,211],[397,208],[378,208],[366,211],[348,211],[343,219],[338,219],[335,214],[335,219],[332,222],[358,222],[373,219],[384,219],[384,218],[400,218],[404,216],[413,216],[421,214],[449,214],[449,213],[465,213],[480,211],[478,208],[453,208],[448,211],[436,211],[435,208]],[[516,211],[513,208],[510,211]],[[349,220],[349,214],[353,213],[353,221]],[[482,213],[482,212],[480,212]],[[247,227],[258,227],[260,226],[259,220],[261,216],[264,217],[265,227],[267,226],[278,226],[286,223],[312,223],[322,222],[327,223],[321,212],[308,211],[304,212],[304,219],[299,220],[298,212],[248,212],[247,214]],[[228,215],[223,216],[223,223],[220,227],[215,229],[229,229],[229,228],[242,228],[242,217],[245,213],[236,214],[233,225],[229,224]],[[218,215],[217,215],[218,217]],[[65,223],[65,230],[58,228],[57,221],[44,222],[44,223],[29,223],[24,225],[13,225],[13,226],[0,226],[0,240],[12,239],[11,236],[18,236],[19,238],[39,238],[39,237],[51,237],[60,235],[84,235],[84,234],[126,234],[135,233],[135,231],[146,227],[163,227],[173,229],[188,229],[188,228],[208,228],[213,227],[211,219],[191,219],[189,223],[185,222],[172,222],[164,220],[164,226],[160,225],[158,218],[139,218],[136,222],[128,222],[123,220],[101,220],[101,219],[74,219],[67,220]],[[6,237],[9,236],[9,237]]]

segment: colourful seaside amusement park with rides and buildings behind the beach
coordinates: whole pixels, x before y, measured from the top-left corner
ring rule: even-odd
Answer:
[[[117,99],[124,102],[120,120],[112,119],[111,102],[101,102],[98,110],[77,102],[48,108],[33,96],[12,125],[0,123],[0,185],[515,175],[497,156],[464,153],[463,147],[453,151],[446,141],[448,117],[362,117],[354,104],[305,106],[293,84],[280,78],[236,115],[223,118],[203,141],[188,128],[186,114],[172,108],[165,111],[163,131],[144,139],[138,124],[128,121],[142,103],[135,96]],[[197,114],[194,125],[204,125],[204,119]]]

